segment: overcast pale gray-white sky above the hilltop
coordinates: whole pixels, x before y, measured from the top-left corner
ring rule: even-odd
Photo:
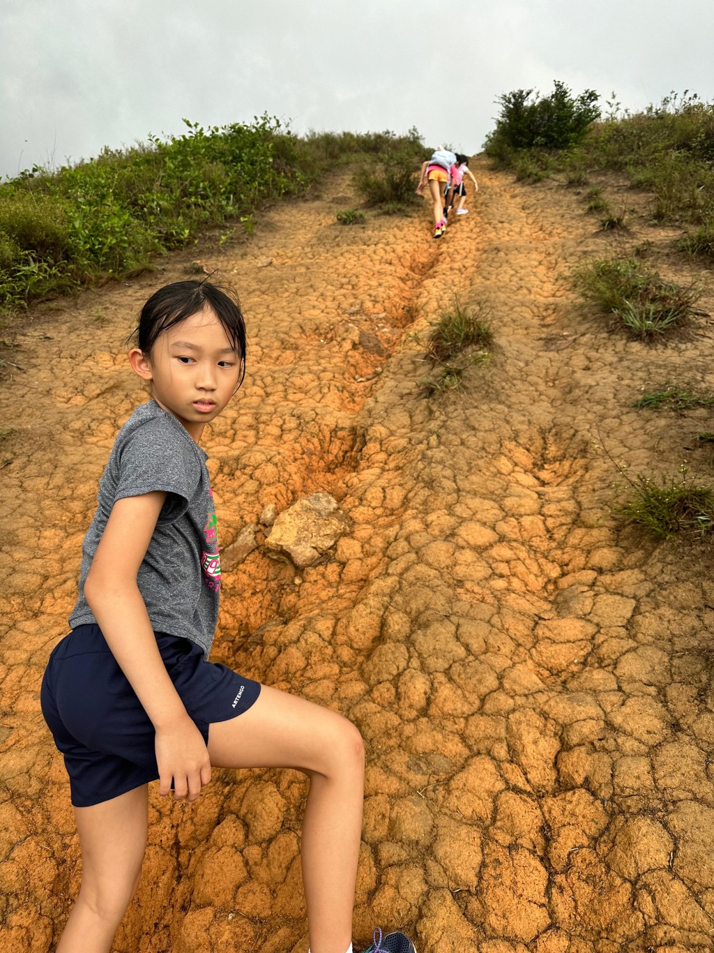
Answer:
[[[714,99],[714,0],[1,0],[0,174],[268,112],[478,152],[502,92]]]

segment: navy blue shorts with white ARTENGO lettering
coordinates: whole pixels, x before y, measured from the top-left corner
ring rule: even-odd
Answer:
[[[188,715],[208,727],[242,715],[260,683],[204,659],[200,645],[156,634]],[[98,625],[78,625],[54,648],[42,680],[42,714],[65,756],[71,801],[90,807],[156,781],[154,728]]]

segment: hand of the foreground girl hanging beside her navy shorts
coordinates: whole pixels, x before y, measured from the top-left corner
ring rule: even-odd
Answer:
[[[155,750],[159,795],[170,794],[173,779],[173,800],[195,801],[210,781],[210,760],[203,736],[188,715],[156,730]]]

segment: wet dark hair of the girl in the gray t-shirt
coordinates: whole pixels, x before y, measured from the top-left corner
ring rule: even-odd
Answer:
[[[246,324],[238,295],[227,285],[219,286],[203,281],[174,281],[154,292],[139,314],[139,323],[129,335],[128,344],[134,344],[142,354],[149,356],[156,340],[179,321],[208,308],[223,325],[240,361],[241,376],[246,375]]]

